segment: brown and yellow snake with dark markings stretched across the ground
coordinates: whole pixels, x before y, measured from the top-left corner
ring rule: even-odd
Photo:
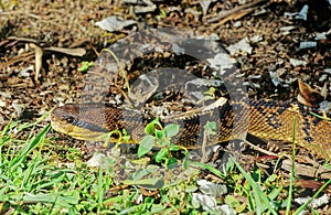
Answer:
[[[236,116],[237,114],[237,116]],[[327,115],[330,118],[330,114]],[[145,127],[151,118],[143,118],[137,110],[120,109],[104,104],[67,104],[56,108],[51,115],[54,130],[75,139],[105,141],[105,133],[126,129],[130,133],[129,143],[139,143]],[[188,111],[164,119],[162,125],[180,125],[177,144],[188,149],[201,148],[204,125],[215,121],[217,132],[205,146],[214,146],[248,133],[267,140],[296,141],[321,158],[331,158],[331,121],[323,118],[320,110],[301,104],[278,104],[275,100],[227,101],[213,109]],[[243,123],[234,122],[242,121]]]

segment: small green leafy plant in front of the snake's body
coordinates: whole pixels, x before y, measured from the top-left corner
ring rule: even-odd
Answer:
[[[151,151],[153,147],[157,147],[161,150],[154,154],[156,162],[171,168],[178,164],[178,160],[172,157],[171,152],[184,149],[184,165],[186,165],[186,154],[189,153],[188,150],[171,142],[171,138],[178,135],[179,129],[180,127],[177,123],[170,123],[163,128],[159,118],[156,118],[145,128],[146,136],[141,140],[138,148],[138,157],[141,158],[143,154]]]

